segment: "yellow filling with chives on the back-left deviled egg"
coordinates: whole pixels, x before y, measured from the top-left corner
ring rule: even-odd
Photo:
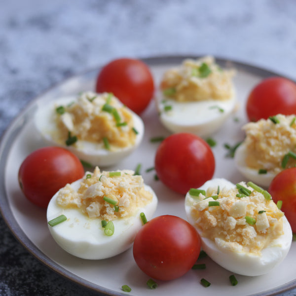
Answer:
[[[109,111],[104,110],[105,105]],[[77,143],[87,141],[102,148],[103,139],[107,138],[111,150],[133,146],[136,141],[131,111],[112,94],[84,92],[73,103],[62,107],[64,112],[55,114],[57,131],[52,135],[61,144],[65,144],[70,134],[77,137]],[[119,116],[114,115],[114,110]]]

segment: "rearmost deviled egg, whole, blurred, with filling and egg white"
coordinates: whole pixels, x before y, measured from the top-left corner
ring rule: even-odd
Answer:
[[[171,132],[208,136],[221,128],[236,106],[232,77],[213,57],[186,59],[164,73],[156,103],[160,121]]]

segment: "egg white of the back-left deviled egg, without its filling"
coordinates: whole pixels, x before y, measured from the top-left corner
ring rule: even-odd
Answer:
[[[69,96],[56,100],[48,105],[39,106],[35,116],[34,123],[37,131],[40,133],[47,145],[60,146],[72,151],[79,159],[90,163],[93,166],[110,166],[118,163],[123,158],[132,153],[142,142],[144,136],[143,120],[133,111],[134,127],[138,131],[136,141],[133,146],[110,151],[103,147],[103,143],[91,143],[88,141],[78,141],[75,146],[66,146],[57,143],[52,138],[52,133],[56,130],[54,115],[56,106],[67,105],[76,99],[75,96]]]

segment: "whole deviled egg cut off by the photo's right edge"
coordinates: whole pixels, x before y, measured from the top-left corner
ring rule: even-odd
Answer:
[[[268,187],[282,170],[296,165],[296,116],[278,114],[243,126],[246,138],[236,149],[237,169],[248,180]]]

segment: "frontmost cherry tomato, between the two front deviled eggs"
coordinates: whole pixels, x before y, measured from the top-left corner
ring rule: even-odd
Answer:
[[[200,237],[192,225],[177,216],[159,216],[136,235],[133,255],[140,269],[156,280],[184,275],[200,253]]]

